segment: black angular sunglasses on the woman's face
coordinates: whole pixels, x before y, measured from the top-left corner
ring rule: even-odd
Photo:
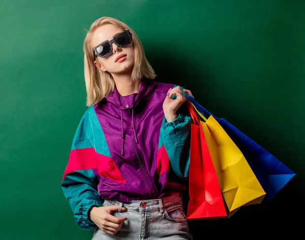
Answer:
[[[129,45],[132,41],[132,34],[127,29],[124,32],[120,32],[113,36],[113,39],[110,41],[105,41],[98,46],[93,48],[93,55],[95,55],[95,52],[97,55],[101,58],[107,57],[112,53],[112,44],[115,43],[118,47],[125,47],[126,45]]]

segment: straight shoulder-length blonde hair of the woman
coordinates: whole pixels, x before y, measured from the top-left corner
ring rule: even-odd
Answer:
[[[84,39],[83,51],[84,76],[87,91],[86,106],[88,107],[100,102],[104,97],[106,97],[114,90],[115,83],[111,73],[108,71],[104,72],[99,70],[94,64],[95,56],[91,46],[94,31],[98,27],[108,23],[113,24],[123,30],[129,29],[129,31],[132,33],[132,41],[134,43],[135,50],[135,63],[131,73],[131,80],[134,82],[138,78],[142,79],[143,76],[146,78],[154,79],[157,76],[153,67],[150,66],[148,60],[145,57],[143,46],[137,34],[127,24],[120,22],[115,18],[101,17],[92,23],[89,30],[85,29],[87,33]]]

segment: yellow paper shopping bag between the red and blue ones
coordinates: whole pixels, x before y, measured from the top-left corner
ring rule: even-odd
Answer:
[[[228,207],[228,217],[241,206],[261,203],[266,193],[229,135],[212,115],[201,126]]]

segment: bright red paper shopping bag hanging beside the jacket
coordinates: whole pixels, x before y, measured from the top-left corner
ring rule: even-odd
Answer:
[[[189,167],[188,220],[227,217],[217,174],[210,157],[200,120],[189,103],[193,119]]]

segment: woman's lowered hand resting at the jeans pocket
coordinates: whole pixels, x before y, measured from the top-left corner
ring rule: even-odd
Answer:
[[[101,230],[107,232],[110,235],[114,235],[123,225],[126,217],[114,217],[112,212],[118,210],[118,205],[97,207],[94,206],[90,209],[89,219],[93,221]],[[122,211],[126,211],[126,208],[122,208]]]

